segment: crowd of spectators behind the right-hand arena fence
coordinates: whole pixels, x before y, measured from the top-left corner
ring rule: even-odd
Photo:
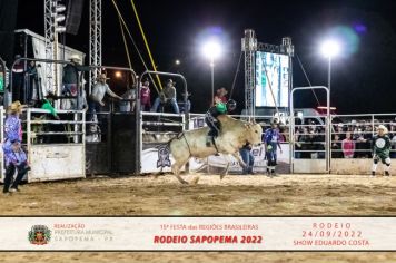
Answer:
[[[372,158],[377,127],[388,129],[390,158],[396,158],[396,115],[333,115],[330,125],[331,158]],[[305,123],[295,126],[295,158],[325,158],[325,125]]]

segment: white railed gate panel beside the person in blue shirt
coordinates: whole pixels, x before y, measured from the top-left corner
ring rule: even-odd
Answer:
[[[86,177],[85,111],[57,110],[57,116],[34,108],[22,115],[28,182]]]

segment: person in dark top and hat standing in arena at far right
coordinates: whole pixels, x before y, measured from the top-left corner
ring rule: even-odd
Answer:
[[[375,176],[378,160],[385,165],[385,176],[389,176],[390,168],[390,139],[387,136],[388,129],[384,125],[379,125],[378,133],[373,137],[373,166],[372,176]]]

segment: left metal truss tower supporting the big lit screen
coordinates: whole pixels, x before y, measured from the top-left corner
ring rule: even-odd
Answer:
[[[255,116],[255,95],[256,95],[256,51],[257,39],[255,31],[251,29],[245,30],[242,38],[242,51],[245,52],[245,107],[246,114]]]

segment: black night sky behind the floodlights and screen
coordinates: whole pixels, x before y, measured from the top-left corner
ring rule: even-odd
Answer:
[[[131,33],[149,59],[129,0],[116,1]],[[327,60],[319,43],[327,36],[343,41],[343,55],[333,60],[331,105],[337,113],[395,113],[396,101],[396,18],[393,1],[216,1],[136,0],[151,52],[160,71],[179,71],[192,92],[192,111],[202,111],[211,97],[210,67],[200,52],[201,39],[216,32],[225,53],[216,62],[215,87],[231,88],[240,56],[244,29],[256,31],[259,42],[280,45],[293,38],[296,55],[313,85],[327,85]],[[111,0],[102,0],[103,65],[128,66],[117,12]],[[89,0],[78,36],[67,35],[66,43],[88,55]],[[43,0],[20,0],[17,28],[43,35]],[[132,66],[143,71],[128,40]],[[175,66],[175,59],[181,64]],[[86,60],[88,62],[88,60]],[[241,65],[242,66],[242,65]],[[294,87],[308,86],[297,57],[294,59]],[[240,67],[232,98],[244,107],[244,68]],[[111,77],[111,76],[110,76]],[[181,88],[181,82],[177,88]],[[319,103],[325,104],[318,94]],[[316,107],[311,92],[297,97],[297,106]]]

